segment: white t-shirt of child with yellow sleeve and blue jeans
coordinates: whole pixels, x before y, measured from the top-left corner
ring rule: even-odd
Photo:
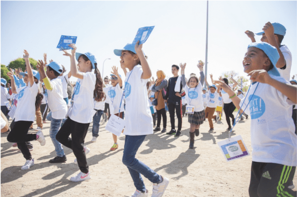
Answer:
[[[63,99],[62,80],[55,78],[50,80],[52,90],[48,90],[48,103],[51,116],[54,119],[64,119],[67,113],[67,104]]]

